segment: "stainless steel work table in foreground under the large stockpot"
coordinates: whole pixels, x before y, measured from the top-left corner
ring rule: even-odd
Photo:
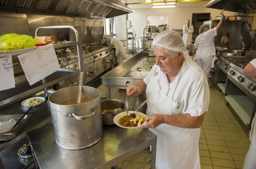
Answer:
[[[151,169],[155,169],[157,135],[148,129],[124,129],[118,126],[104,126],[103,138],[95,145],[81,150],[66,150],[55,142],[53,125],[47,125],[27,133],[35,158],[41,169],[108,169],[130,156],[151,147],[151,152],[126,165],[131,167],[135,162],[151,154]]]

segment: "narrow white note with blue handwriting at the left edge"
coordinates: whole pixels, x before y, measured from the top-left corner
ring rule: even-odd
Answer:
[[[15,87],[11,54],[0,55],[0,91]]]

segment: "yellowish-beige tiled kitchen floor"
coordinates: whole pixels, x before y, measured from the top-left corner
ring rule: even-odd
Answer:
[[[101,85],[98,89],[102,97],[105,96],[105,86]],[[125,93],[125,90],[111,89],[112,99],[124,100]],[[129,105],[133,99],[133,97],[128,99]],[[201,169],[242,169],[250,145],[242,127],[244,126],[233,109],[225,105],[223,96],[215,87],[210,87],[210,107],[205,115],[199,140]],[[148,151],[145,149],[119,163],[118,166],[124,167]],[[136,169],[148,160],[141,160],[130,169]],[[149,168],[150,165],[144,167],[144,169]]]

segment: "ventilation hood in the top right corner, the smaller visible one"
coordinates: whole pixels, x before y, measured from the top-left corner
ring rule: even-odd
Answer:
[[[238,13],[256,13],[256,0],[211,0],[205,7]]]

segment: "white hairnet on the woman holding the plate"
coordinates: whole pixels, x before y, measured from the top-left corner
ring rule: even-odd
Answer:
[[[166,30],[159,33],[152,42],[153,46],[183,53],[184,58],[189,58],[188,51],[184,45],[181,35],[173,30]]]

